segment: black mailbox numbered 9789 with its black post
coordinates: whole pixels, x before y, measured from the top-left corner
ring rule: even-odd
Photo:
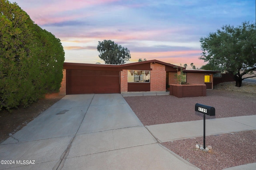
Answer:
[[[205,115],[215,116],[215,108],[212,106],[206,106],[206,105],[197,103],[195,105],[195,111],[204,114],[204,149],[205,149]]]

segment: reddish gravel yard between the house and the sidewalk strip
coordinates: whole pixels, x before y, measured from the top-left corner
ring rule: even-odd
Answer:
[[[124,97],[143,125],[157,125],[182,121],[202,120],[195,112],[195,104],[215,107],[215,116],[206,119],[255,115],[255,93],[226,90],[207,90],[204,97],[177,98],[175,96]]]

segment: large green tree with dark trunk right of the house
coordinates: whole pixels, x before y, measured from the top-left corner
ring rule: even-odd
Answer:
[[[200,43],[203,52],[199,59],[233,74],[237,87],[242,86],[244,74],[252,74],[256,70],[256,24],[225,25],[200,38]]]

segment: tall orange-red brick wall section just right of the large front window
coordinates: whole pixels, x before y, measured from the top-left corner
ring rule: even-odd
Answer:
[[[150,63],[150,91],[166,90],[166,71],[165,65]]]

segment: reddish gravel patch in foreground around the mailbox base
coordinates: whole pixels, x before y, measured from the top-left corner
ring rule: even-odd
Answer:
[[[213,153],[196,149],[203,144],[203,137],[161,143],[201,170],[222,170],[256,162],[256,131],[242,131],[206,136],[206,146],[211,145]]]

